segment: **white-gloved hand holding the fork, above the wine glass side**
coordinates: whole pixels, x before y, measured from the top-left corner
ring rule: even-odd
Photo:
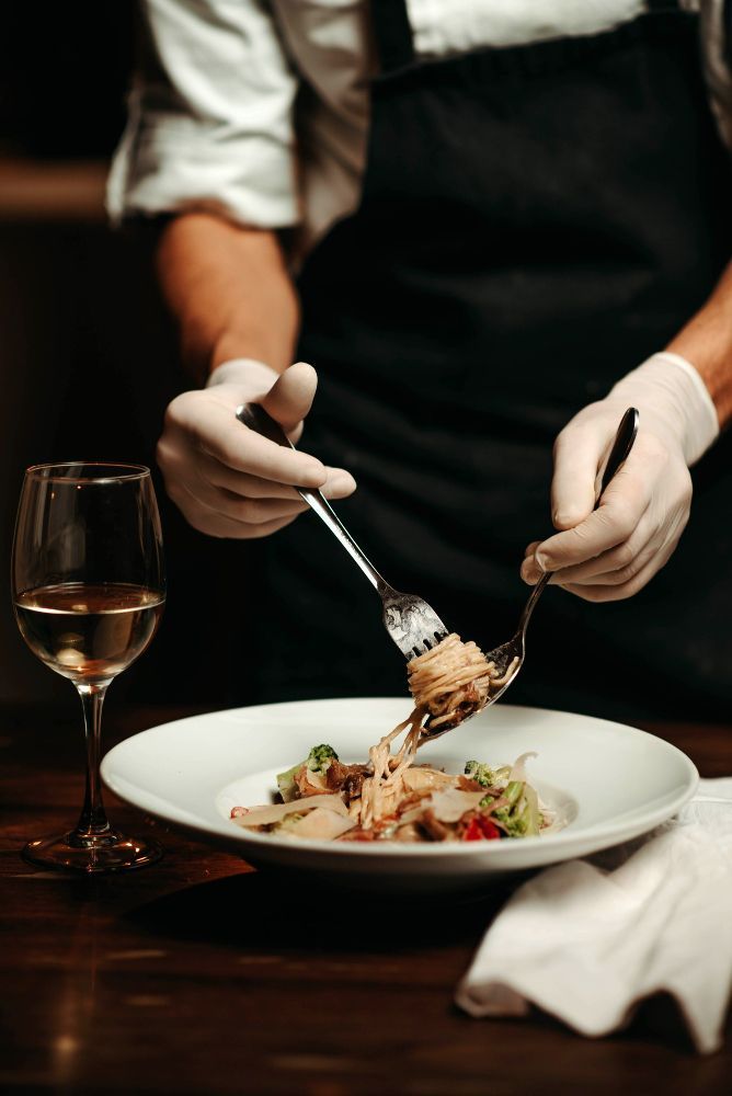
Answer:
[[[169,404],[158,464],[168,494],[194,528],[214,537],[264,537],[307,509],[296,487],[320,488],[329,499],[355,490],[344,469],[270,442],[236,418],[241,403],[261,403],[296,442],[316,385],[305,362],[278,376],[261,362],[238,359],[219,366],[208,387]]]

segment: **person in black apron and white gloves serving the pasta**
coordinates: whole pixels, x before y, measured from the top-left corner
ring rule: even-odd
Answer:
[[[308,486],[484,649],[515,629],[522,559],[529,585],[552,572],[512,699],[729,713],[722,0],[142,12],[110,206],[160,218],[201,386],[165,413],[168,492],[203,533],[267,538],[252,695],[404,690],[373,590],[299,518]],[[298,452],[236,420],[250,400]]]

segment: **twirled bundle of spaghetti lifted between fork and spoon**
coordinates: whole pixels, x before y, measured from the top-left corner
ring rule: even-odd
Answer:
[[[446,731],[484,708],[511,680],[516,662],[502,674],[477,643],[464,643],[451,632],[408,663],[409,688],[415,707],[426,713],[430,730]]]

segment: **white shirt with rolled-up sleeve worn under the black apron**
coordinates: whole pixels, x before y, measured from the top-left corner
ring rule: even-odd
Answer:
[[[512,46],[618,26],[644,0],[408,0],[418,56]],[[732,146],[723,0],[700,10],[705,70]],[[307,249],[361,195],[368,0],[144,0],[146,41],[107,190],[114,220],[210,209],[299,228]]]

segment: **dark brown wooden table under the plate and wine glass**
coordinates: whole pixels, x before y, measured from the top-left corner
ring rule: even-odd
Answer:
[[[105,743],[186,712],[106,712]],[[695,1055],[674,1009],[583,1039],[538,1013],[473,1020],[456,982],[502,897],[450,907],[323,897],[156,826],[167,855],[124,877],[44,872],[30,837],[76,821],[82,746],[60,711],[0,710],[0,1091],[545,1094],[732,1091],[725,1050]],[[666,727],[702,775],[732,728]],[[129,830],[150,823],[107,796]]]

